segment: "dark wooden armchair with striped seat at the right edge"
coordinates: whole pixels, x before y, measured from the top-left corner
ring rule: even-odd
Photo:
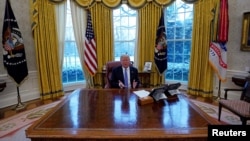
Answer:
[[[227,89],[227,91],[234,91],[235,89]],[[240,91],[240,89],[236,89],[236,91]],[[238,100],[227,100],[220,99],[219,100],[219,114],[218,120],[220,121],[221,109],[225,108],[232,113],[236,114],[240,117],[242,125],[246,125],[247,120],[250,120],[250,81],[245,83],[243,89],[241,89],[241,97]],[[226,98],[226,97],[225,97]]]

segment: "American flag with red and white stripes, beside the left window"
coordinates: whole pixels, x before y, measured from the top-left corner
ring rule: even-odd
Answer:
[[[95,75],[97,72],[97,58],[96,58],[96,43],[94,39],[94,31],[92,27],[91,14],[88,11],[87,29],[85,34],[85,50],[84,50],[84,64],[88,69],[90,75]]]

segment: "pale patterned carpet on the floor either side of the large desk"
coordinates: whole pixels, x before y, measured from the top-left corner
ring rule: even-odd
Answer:
[[[211,117],[218,118],[218,106],[204,102],[191,100],[199,108],[205,111]],[[20,113],[7,119],[0,120],[0,141],[30,141],[25,136],[25,130],[41,116],[46,114],[51,108],[57,105],[59,101],[43,105],[35,109]],[[223,109],[221,120],[228,124],[241,124],[240,119]],[[250,122],[248,122],[250,124]]]

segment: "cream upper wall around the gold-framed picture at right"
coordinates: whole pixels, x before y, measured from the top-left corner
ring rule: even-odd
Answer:
[[[241,27],[244,12],[250,12],[249,0],[229,0],[228,70],[244,71],[250,67],[250,52],[240,51]]]

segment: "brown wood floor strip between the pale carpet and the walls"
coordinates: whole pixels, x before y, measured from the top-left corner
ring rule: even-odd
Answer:
[[[65,94],[65,96],[66,95],[67,94]],[[18,113],[21,113],[21,112],[24,112],[24,111],[27,111],[27,110],[30,110],[30,109],[45,105],[45,104],[52,103],[54,101],[59,101],[60,99],[65,98],[65,96],[61,97],[59,99],[54,99],[54,100],[36,99],[36,100],[28,101],[28,102],[23,102],[23,104],[25,105],[25,108],[20,109],[20,110],[15,110],[16,105],[9,106],[9,107],[6,107],[6,108],[1,108],[0,109],[0,120],[2,120],[4,118],[11,117],[11,116],[14,116],[14,115],[16,115]],[[195,100],[202,101],[202,102],[205,102],[205,103],[218,105],[218,101],[215,98],[203,98],[203,97],[197,97],[197,96],[192,96],[192,95],[188,95],[188,97],[190,99],[195,99]]]

